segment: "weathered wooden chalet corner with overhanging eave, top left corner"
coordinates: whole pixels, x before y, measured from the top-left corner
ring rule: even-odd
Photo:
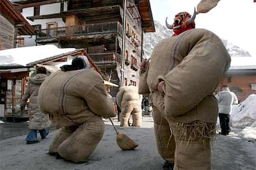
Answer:
[[[0,50],[19,47],[20,35],[34,34],[33,26],[14,8],[9,0],[0,1]]]

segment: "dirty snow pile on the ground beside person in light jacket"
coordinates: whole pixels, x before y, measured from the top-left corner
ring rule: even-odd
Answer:
[[[256,94],[251,94],[238,105],[233,105],[231,126],[239,136],[256,139]]]

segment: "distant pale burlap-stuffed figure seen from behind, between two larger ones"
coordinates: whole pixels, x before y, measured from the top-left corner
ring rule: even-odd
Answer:
[[[132,126],[142,126],[142,95],[138,93],[138,87],[120,87],[116,99],[117,105],[121,107],[120,126],[129,126],[130,115],[132,115]]]

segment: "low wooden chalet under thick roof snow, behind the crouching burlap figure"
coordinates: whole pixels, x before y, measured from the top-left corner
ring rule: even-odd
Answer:
[[[52,45],[53,46],[53,45]],[[40,46],[36,46],[38,49]],[[21,48],[18,48],[21,49]],[[60,52],[61,53],[61,52]],[[11,55],[11,53],[10,53]],[[25,55],[25,54],[23,54]],[[40,60],[33,60],[33,62],[22,65],[4,65],[0,64],[0,117],[5,118],[8,121],[16,121],[17,119],[27,119],[27,110],[20,110],[20,101],[25,94],[26,85],[30,76],[33,75],[36,67],[43,66],[48,70],[48,75],[54,71],[59,70],[57,67],[59,64],[67,63],[68,60],[72,60],[75,57],[85,56],[87,57],[90,66],[93,70],[97,71],[101,75],[101,71],[96,67],[93,60],[87,54],[85,49],[74,49],[74,51],[61,53],[51,57],[45,57]],[[3,56],[0,55],[0,59]],[[21,55],[22,57],[22,55]]]

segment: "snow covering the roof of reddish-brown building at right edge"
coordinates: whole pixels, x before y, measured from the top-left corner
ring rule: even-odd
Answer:
[[[231,67],[236,69],[256,69],[256,57],[231,57]]]

